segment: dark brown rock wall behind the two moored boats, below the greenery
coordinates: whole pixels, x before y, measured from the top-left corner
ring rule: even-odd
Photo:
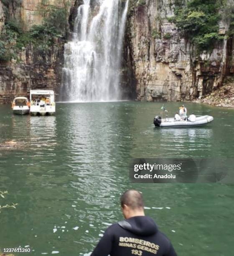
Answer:
[[[50,51],[28,45],[17,61],[0,64],[0,103],[9,103],[16,96],[28,96],[30,89],[55,90],[61,82],[63,41]]]

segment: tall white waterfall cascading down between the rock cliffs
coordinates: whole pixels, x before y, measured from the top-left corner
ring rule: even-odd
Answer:
[[[121,99],[120,64],[128,0],[95,1],[99,11],[92,18],[90,0],[83,0],[77,10],[73,38],[65,44],[63,101]]]

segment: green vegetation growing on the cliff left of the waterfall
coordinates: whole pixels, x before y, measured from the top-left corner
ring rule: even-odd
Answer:
[[[10,2],[3,1],[4,10],[9,10]],[[20,0],[16,2],[15,7],[20,5]],[[49,5],[48,0],[38,4],[38,14],[43,17],[43,22],[41,25],[34,25],[29,31],[24,30],[21,20],[17,20],[6,11],[5,26],[0,35],[0,61],[17,59],[18,52],[29,44],[47,51],[56,44],[58,38],[64,37],[67,32],[68,1],[61,0],[61,3],[63,7]]]

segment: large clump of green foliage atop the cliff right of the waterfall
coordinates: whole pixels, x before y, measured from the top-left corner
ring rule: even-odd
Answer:
[[[185,5],[183,0],[175,4],[174,22],[183,36],[198,47],[198,50],[208,50],[214,47],[214,42],[222,40],[219,35],[219,10],[223,0],[190,0]]]

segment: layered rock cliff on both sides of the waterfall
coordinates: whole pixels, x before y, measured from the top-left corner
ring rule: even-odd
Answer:
[[[70,31],[73,28],[77,6],[82,2],[0,1],[2,35],[6,34],[6,23],[11,18],[18,20],[27,32],[34,25],[43,24],[43,10],[45,13],[48,7],[66,8],[67,12],[64,36],[52,38],[46,49],[35,45],[37,40],[33,44],[23,39],[24,45],[16,52],[10,51],[10,59],[0,61],[0,103],[10,102],[15,95],[27,95],[30,88],[59,92],[64,43],[69,38],[69,28]],[[228,2],[234,5],[234,0]],[[170,20],[177,3],[178,0],[130,0],[121,72],[123,97],[149,101],[194,100],[209,95],[227,76],[233,75],[234,38],[228,36],[230,21],[222,15],[222,10],[224,18],[219,21],[219,35],[224,39],[215,41],[212,50],[198,53],[196,44],[191,44]],[[10,44],[18,43],[16,40]]]

